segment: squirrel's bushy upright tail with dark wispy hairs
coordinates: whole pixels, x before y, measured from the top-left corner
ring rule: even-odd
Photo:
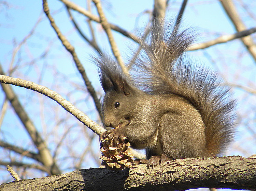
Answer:
[[[229,88],[216,73],[193,65],[183,53],[194,36],[155,24],[134,63],[135,81],[152,94],[177,94],[195,106],[205,124],[208,156],[220,154],[234,134],[234,105]]]

